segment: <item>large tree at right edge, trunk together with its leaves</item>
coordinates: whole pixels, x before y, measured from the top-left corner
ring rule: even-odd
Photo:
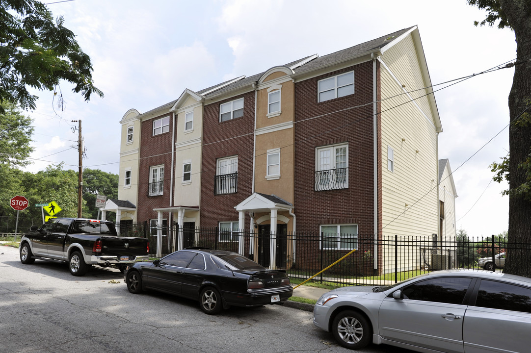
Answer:
[[[509,93],[509,153],[504,175],[509,180],[509,242],[531,244],[531,2],[467,0],[487,11],[475,25],[496,25],[515,32],[515,75]],[[503,173],[502,173],[503,174]],[[498,174],[499,176],[499,174]],[[519,246],[519,248],[524,246]],[[531,277],[531,249],[510,248],[504,272]]]

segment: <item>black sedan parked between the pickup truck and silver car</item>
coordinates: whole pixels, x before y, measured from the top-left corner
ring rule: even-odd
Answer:
[[[293,294],[285,270],[268,270],[238,253],[187,248],[124,271],[127,289],[153,289],[199,300],[207,314],[229,306],[282,304]]]

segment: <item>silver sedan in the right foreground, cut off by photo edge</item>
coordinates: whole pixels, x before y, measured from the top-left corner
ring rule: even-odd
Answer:
[[[388,287],[327,292],[313,323],[343,347],[385,343],[419,352],[528,352],[531,279],[446,270]]]

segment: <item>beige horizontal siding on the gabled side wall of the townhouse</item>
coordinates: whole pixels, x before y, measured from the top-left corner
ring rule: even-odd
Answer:
[[[387,66],[381,66],[383,236],[431,239],[438,233],[437,139],[428,99],[410,102],[425,91],[402,94],[425,85],[412,38],[387,50],[381,61]],[[388,146],[394,151],[393,172],[387,168]],[[418,254],[407,258],[409,262],[399,268],[420,263]],[[393,260],[384,263],[385,268],[394,268]]]

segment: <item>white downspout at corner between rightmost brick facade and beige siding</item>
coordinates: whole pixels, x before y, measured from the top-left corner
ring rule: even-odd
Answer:
[[[373,170],[373,190],[374,190],[374,268],[378,269],[378,88],[376,80],[376,55],[371,53],[372,59],[372,135],[373,135],[373,160],[374,160],[374,170]]]

